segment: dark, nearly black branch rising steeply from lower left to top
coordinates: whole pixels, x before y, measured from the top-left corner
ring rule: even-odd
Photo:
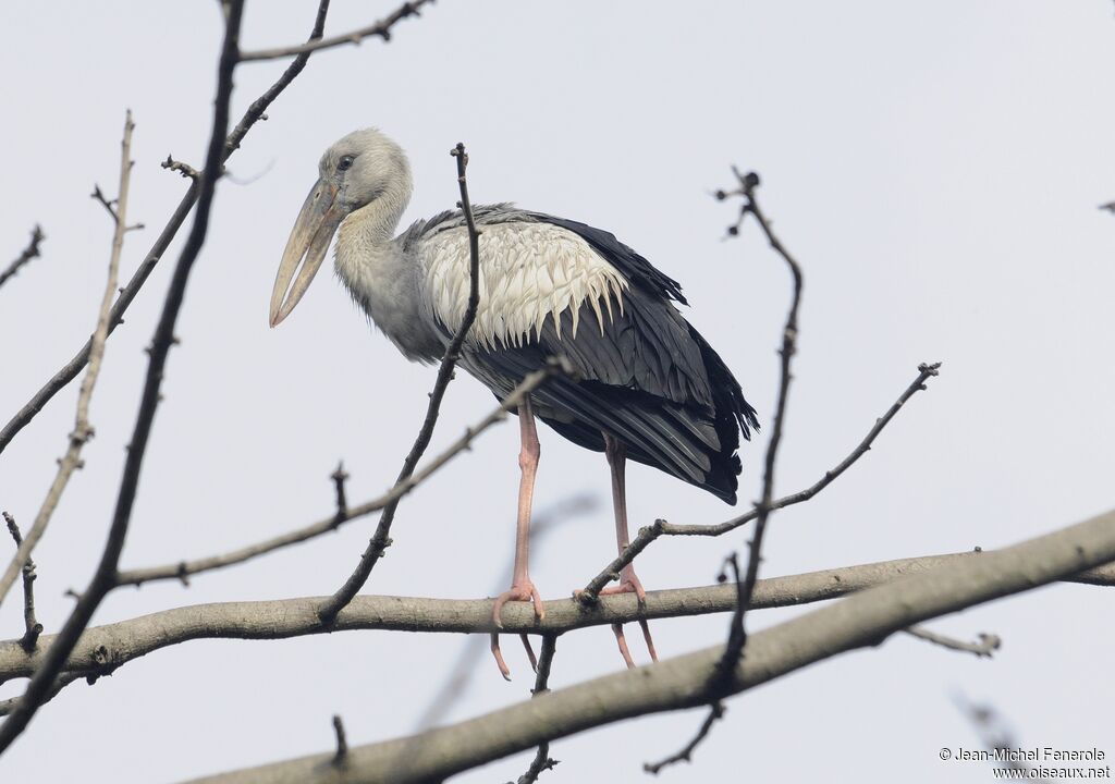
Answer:
[[[144,380],[139,413],[136,417],[132,443],[128,446],[128,455],[124,464],[123,476],[120,477],[120,488],[116,499],[116,510],[113,514],[112,525],[109,526],[108,539],[88,588],[81,593],[81,598],[78,600],[72,612],[70,612],[62,630],[55,638],[54,643],[42,659],[42,664],[27,685],[27,690],[20,698],[19,705],[11,712],[11,715],[8,716],[3,725],[0,725],[0,753],[7,749],[12,741],[19,737],[31,720],[31,717],[39,709],[39,706],[42,705],[50,687],[69,658],[70,651],[77,645],[81,632],[89,625],[93,613],[108,591],[116,585],[116,569],[119,563],[120,551],[124,549],[124,540],[127,536],[128,523],[132,519],[136,488],[139,484],[139,471],[147,451],[147,441],[151,436],[155,412],[162,399],[161,389],[166,359],[171,347],[175,342],[174,327],[178,319],[178,312],[182,309],[183,299],[185,298],[190,272],[197,260],[202,244],[205,242],[205,235],[209,231],[210,211],[213,205],[213,194],[216,188],[217,175],[221,171],[224,141],[229,129],[232,72],[236,67],[243,0],[229,0],[226,9],[227,20],[225,22],[224,42],[221,47],[221,59],[217,66],[212,132],[205,156],[205,172],[198,183],[197,210],[194,213],[194,223],[190,230],[190,235],[186,238],[182,254],[178,257],[178,263],[174,269],[171,285],[166,293],[166,301],[163,306],[163,313],[159,317],[158,326],[155,328],[155,335],[152,339],[147,376]],[[123,214],[123,211],[120,212]],[[122,217],[118,225],[123,224],[124,220]]]

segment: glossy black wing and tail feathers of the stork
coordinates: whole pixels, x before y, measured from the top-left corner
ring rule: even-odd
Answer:
[[[575,337],[566,310],[560,332],[551,317],[529,345],[471,352],[469,370],[502,397],[547,357],[566,356],[580,378],[552,379],[532,395],[543,422],[598,452],[607,432],[632,459],[734,504],[739,434],[749,438],[758,420],[731,371],[673,307],[671,300],[685,302],[681,287],[608,232],[530,215],[579,234],[623,273],[630,288],[622,314],[613,302],[613,318],[601,329],[583,302]]]

